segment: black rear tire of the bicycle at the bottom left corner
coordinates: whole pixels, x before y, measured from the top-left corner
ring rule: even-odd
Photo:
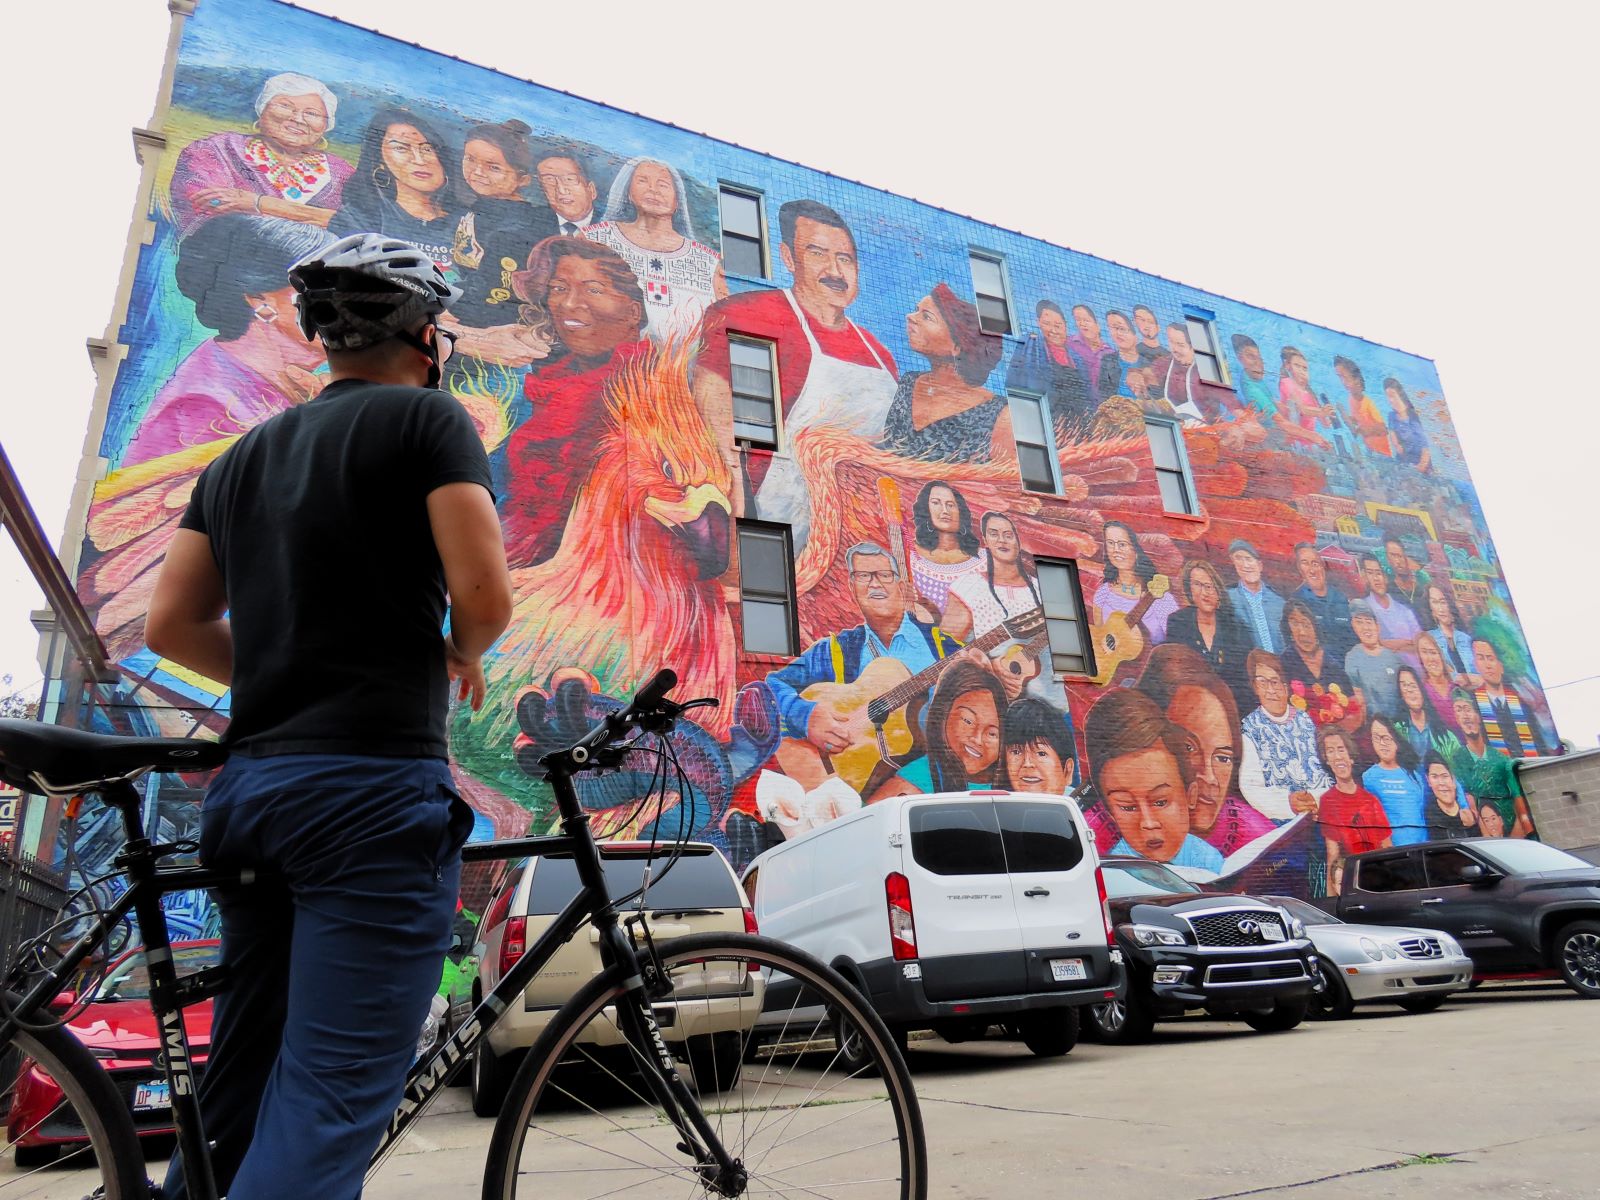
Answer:
[[[21,997],[8,992],[6,1011],[18,1003]],[[34,1090],[35,1101],[45,1091],[45,1085],[37,1080],[32,1069],[24,1082],[22,1067],[29,1059],[61,1091],[59,1104],[51,1104],[40,1118],[19,1117],[13,1112],[22,1086]],[[0,1069],[6,1072],[0,1083],[0,1120],[6,1122],[0,1149],[0,1195],[6,1195],[10,1186],[34,1171],[61,1171],[62,1182],[69,1184],[67,1173],[74,1170],[82,1171],[83,1178],[70,1181],[72,1195],[85,1195],[94,1187],[102,1189],[96,1195],[104,1200],[146,1200],[150,1195],[144,1152],[139,1149],[139,1134],[134,1131],[126,1101],[82,1042],[59,1026],[18,1029],[0,1048]],[[62,1106],[70,1106],[70,1112],[64,1112]],[[37,1107],[26,1104],[26,1112],[37,1112]],[[18,1120],[27,1123],[18,1128]],[[82,1126],[83,1141],[66,1142],[53,1163],[29,1166],[27,1158],[46,1147],[21,1144],[22,1138],[46,1130],[46,1125],[48,1133],[58,1136],[75,1134]],[[50,1182],[56,1182],[54,1174]]]

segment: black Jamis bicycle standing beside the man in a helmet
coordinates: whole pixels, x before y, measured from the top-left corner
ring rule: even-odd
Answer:
[[[648,872],[632,896],[608,891],[573,776],[616,768],[630,754],[653,754],[662,766],[675,768],[666,734],[683,712],[715,704],[667,699],[675,682],[662,670],[626,709],[541,760],[560,810],[560,835],[464,851],[469,861],[570,856],[582,886],[474,1013],[411,1067],[405,1098],[373,1155],[370,1184],[478,1040],[509,1005],[522,1002],[560,946],[587,925],[605,970],[560,1008],[518,1067],[490,1141],[483,1197],[926,1195],[928,1157],[910,1075],[894,1037],[858,990],[816,958],[768,938],[706,933],[654,942],[643,920]],[[110,1200],[152,1195],[128,1096],[51,1008],[75,973],[102,957],[115,931],[126,928],[131,912],[142,934],[150,1010],[163,1043],[160,1066],[189,1194],[216,1200],[195,1098],[200,1069],[190,1059],[182,1010],[224,989],[227,979],[221,968],[179,978],[162,896],[254,880],[253,872],[162,866],[162,859],[192,854],[195,846],[146,837],[133,781],[147,771],[203,770],[224,758],[224,749],[194,741],[0,722],[0,776],[46,795],[96,795],[120,811],[126,832],[114,861],[126,891],[109,907],[69,912],[54,936],[46,931],[24,947],[0,992],[0,1048],[14,1051],[0,1056],[0,1069],[10,1072],[0,1085],[8,1122],[0,1197],[8,1189],[14,1195],[93,1192]],[[666,782],[664,773],[658,781]],[[670,870],[674,848],[664,845],[658,877]],[[635,899],[638,915],[630,915],[627,906]],[[62,930],[77,936],[66,949],[53,949],[64,941]],[[698,1008],[701,1026],[718,1030],[714,1038],[730,1053],[698,1056],[694,1066],[680,1069],[656,1016],[667,997],[674,1003],[662,1013]],[[848,1059],[835,1030],[845,1030],[851,1042]],[[40,1075],[59,1093],[45,1114],[19,1104]],[[21,1122],[24,1110],[32,1115]],[[59,1160],[18,1165],[18,1147],[32,1147],[42,1136],[62,1144]],[[371,1194],[381,1195],[381,1187]]]

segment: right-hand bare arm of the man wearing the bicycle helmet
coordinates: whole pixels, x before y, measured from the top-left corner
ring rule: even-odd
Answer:
[[[477,483],[446,483],[427,493],[427,520],[450,589],[450,677],[461,698],[483,707],[483,651],[510,624],[510,571],[494,499]]]

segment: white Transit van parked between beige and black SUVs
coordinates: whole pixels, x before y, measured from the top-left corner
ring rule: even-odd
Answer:
[[[744,888],[762,933],[835,966],[901,1037],[963,1042],[998,1024],[1064,1054],[1078,1008],[1122,995],[1094,837],[1062,797],[880,800],[773,846]],[[803,1010],[797,990],[768,981],[758,1027]],[[850,1030],[835,1035],[843,1046]]]

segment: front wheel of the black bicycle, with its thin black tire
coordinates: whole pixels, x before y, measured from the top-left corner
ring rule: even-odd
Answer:
[[[710,1080],[709,1090],[702,1080],[693,1080],[693,1070],[683,1080],[718,1128],[728,1152],[750,1171],[750,1195],[762,1194],[776,1182],[782,1194],[790,1195],[925,1200],[928,1147],[917,1093],[894,1037],[861,992],[811,955],[770,938],[706,933],[661,942],[658,949],[662,965],[678,982],[674,997],[666,1002],[672,1022],[662,1021],[662,1037],[669,1046],[682,1042],[674,1046],[675,1053],[688,1046],[694,1037],[688,1030],[694,1022],[731,1021],[738,1029],[738,1048],[730,1045],[720,1056],[701,1056],[702,1062],[731,1066],[734,1072],[741,1070],[742,1062],[742,1074],[736,1080]],[[720,971],[718,962],[725,963]],[[702,982],[694,981],[694,971],[701,971]],[[734,1002],[726,981],[739,973],[750,981],[742,986],[752,995]],[[762,1037],[776,1035],[778,1050],[765,1062],[758,1056],[750,1061],[749,1050],[757,1035],[755,1014],[760,1013],[765,990],[773,986],[773,973],[787,976],[802,987],[789,989],[795,992],[795,1000],[787,1010],[768,1010],[765,1014]],[[712,990],[714,979],[722,981],[715,984],[720,990]],[[762,981],[760,987],[755,979]],[[779,984],[789,987],[786,981]],[[698,997],[696,989],[706,995]],[[664,1179],[675,1181],[678,1187],[686,1184],[694,1195],[718,1195],[696,1176],[693,1160],[677,1147],[678,1131],[648,1096],[648,1088],[634,1085],[622,1072],[608,1066],[613,1058],[619,1058],[630,1070],[659,1070],[654,1058],[642,1054],[626,1040],[610,1054],[602,1053],[600,1043],[611,1045],[621,1037],[608,1010],[614,1013],[616,1002],[626,995],[621,968],[613,966],[595,976],[560,1008],[528,1051],[490,1141],[483,1176],[485,1200],[514,1200],[523,1181],[523,1195],[538,1200],[662,1195]],[[805,1008],[800,1006],[802,998]],[[661,1002],[658,1021],[659,1010]],[[850,1019],[861,1032],[870,1059],[867,1067],[850,1074],[837,1067],[838,1050],[830,1032],[835,1014]],[[725,1037],[726,1032],[710,1037]],[[826,1050],[819,1050],[818,1042]],[[774,1070],[779,1051],[786,1050],[795,1059]],[[800,1096],[798,1088],[808,1083],[810,1090]],[[602,1099],[595,1106],[584,1094],[595,1088],[616,1091],[618,1086],[622,1090],[621,1104]],[[778,1102],[779,1098],[782,1102]],[[712,1099],[714,1107],[706,1104]],[[795,1125],[805,1114],[816,1114],[816,1118],[797,1130]],[[752,1115],[757,1115],[754,1128]],[[882,1141],[838,1149],[838,1141],[877,1134],[883,1134]],[[771,1162],[774,1154],[800,1146],[808,1136],[811,1141],[800,1150],[781,1154]],[[597,1144],[600,1141],[606,1144]],[[888,1141],[894,1141],[894,1147],[880,1150]],[[629,1160],[629,1154],[642,1155],[645,1162]],[[800,1162],[792,1162],[795,1157]],[[794,1171],[805,1168],[818,1168],[813,1174],[819,1176],[834,1176],[846,1168],[893,1174],[869,1174],[864,1179],[792,1178]],[[637,1182],[624,1178],[630,1171],[640,1176]],[[835,1187],[842,1190],[835,1192]]]

